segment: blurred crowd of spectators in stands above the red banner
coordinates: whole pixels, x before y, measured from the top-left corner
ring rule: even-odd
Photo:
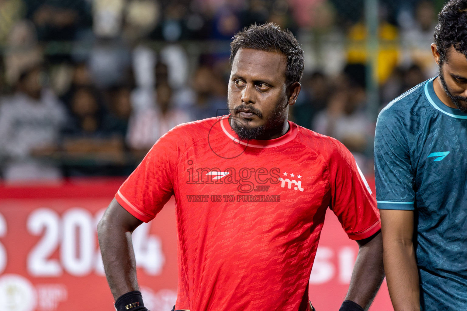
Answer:
[[[131,173],[172,127],[226,114],[230,40],[267,21],[305,53],[290,120],[372,173],[368,106],[436,75],[444,0],[379,2],[379,102],[368,103],[362,0],[0,0],[0,178]]]

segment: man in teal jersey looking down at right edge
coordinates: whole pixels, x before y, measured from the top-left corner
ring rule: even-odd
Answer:
[[[439,76],[384,108],[376,200],[395,311],[467,310],[467,0],[439,14]]]

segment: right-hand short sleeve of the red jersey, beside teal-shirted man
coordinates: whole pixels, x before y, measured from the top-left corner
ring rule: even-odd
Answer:
[[[331,209],[352,240],[362,240],[381,229],[379,210],[354,156],[340,142],[329,159]]]

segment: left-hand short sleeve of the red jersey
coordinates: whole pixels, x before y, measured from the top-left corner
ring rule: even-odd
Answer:
[[[115,194],[120,205],[141,221],[156,217],[173,194],[176,141],[174,130],[161,137]]]

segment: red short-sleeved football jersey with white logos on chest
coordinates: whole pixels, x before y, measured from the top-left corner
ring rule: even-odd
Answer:
[[[289,125],[280,138],[241,141],[228,116],[181,124],[115,195],[146,222],[175,195],[175,309],[309,310],[326,209],[353,240],[381,228],[352,154],[334,138]]]

